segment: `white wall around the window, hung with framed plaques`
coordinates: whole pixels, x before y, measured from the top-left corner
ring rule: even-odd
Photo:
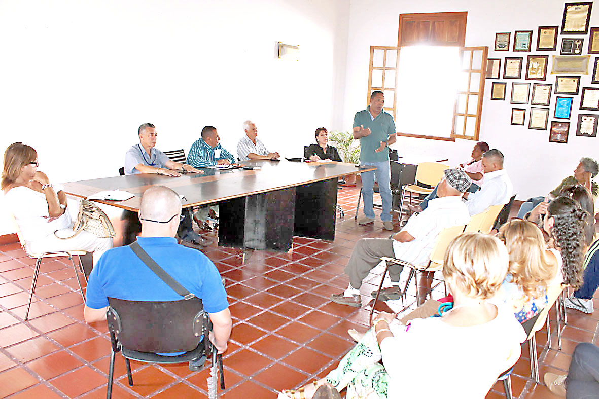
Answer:
[[[545,25],[561,25],[564,2],[557,0],[381,0],[375,3],[367,0],[352,0],[350,4],[350,20],[347,55],[346,101],[343,113],[344,128],[351,128],[353,114],[364,109],[367,96],[368,55],[370,46],[397,46],[399,14],[432,13],[446,11],[468,11],[465,46],[489,46],[489,58],[505,58],[506,56],[524,57],[528,54],[555,55],[558,52],[512,53],[493,51],[496,32],[533,31],[532,48],[536,49],[537,29]],[[593,10],[591,26],[599,25],[599,10]],[[558,36],[558,49],[561,44]],[[583,54],[586,55],[589,36],[585,36]],[[511,46],[511,45],[510,45]],[[592,74],[591,57],[590,73]],[[503,65],[501,62],[502,76]],[[442,68],[442,65],[439,65]],[[525,72],[523,68],[522,77]],[[550,75],[551,62],[547,70],[547,81],[555,84],[555,75]],[[491,82],[507,81],[506,101],[491,101]],[[582,156],[598,159],[599,138],[576,137],[577,115],[580,96],[574,96],[572,115],[570,118],[570,135],[567,144],[549,143],[549,130],[528,129],[530,105],[510,104],[513,79],[486,80],[485,99],[483,102],[480,140],[487,141],[491,148],[500,149],[506,156],[506,169],[518,199],[523,200],[534,195],[544,195],[561,182],[563,177],[572,174]],[[526,81],[526,80],[522,80]],[[530,82],[530,80],[529,80]],[[533,81],[534,83],[535,81]],[[540,81],[536,81],[540,82]],[[582,75],[580,87],[590,86],[590,75]],[[532,84],[531,84],[532,89]],[[582,89],[580,90],[582,92]],[[401,94],[400,94],[401,95]],[[555,94],[552,94],[550,117],[553,116]],[[426,106],[426,105],[425,105]],[[434,105],[431,116],[434,117]],[[526,126],[510,125],[512,108],[527,108]],[[582,111],[582,113],[588,113]],[[590,112],[592,113],[592,112]],[[551,119],[549,119],[550,125]],[[423,121],[426,123],[426,121]],[[455,143],[417,138],[398,137],[393,147],[400,155],[425,154],[441,155],[450,158],[450,165],[467,160],[470,155],[472,141],[457,140]]]

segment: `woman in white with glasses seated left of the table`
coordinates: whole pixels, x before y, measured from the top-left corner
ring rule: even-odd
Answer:
[[[95,265],[102,253],[112,247],[112,238],[98,238],[81,231],[73,235],[71,216],[66,210],[66,194],[37,170],[37,152],[23,143],[11,144],[4,152],[1,188],[4,201],[19,226],[30,253],[84,250],[93,252]],[[56,235],[55,235],[56,232]]]

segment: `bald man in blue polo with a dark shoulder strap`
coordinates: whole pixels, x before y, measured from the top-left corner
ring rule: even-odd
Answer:
[[[225,352],[231,335],[231,312],[216,266],[203,253],[177,244],[181,200],[165,186],[153,186],[141,197],[141,234],[137,242],[145,252],[187,291],[202,300],[213,323],[210,341]],[[177,301],[181,296],[162,281],[128,246],[102,255],[87,282],[83,316],[88,323],[106,319],[108,298],[130,301]],[[177,355],[180,353],[173,353]],[[189,362],[200,370],[204,359]]]

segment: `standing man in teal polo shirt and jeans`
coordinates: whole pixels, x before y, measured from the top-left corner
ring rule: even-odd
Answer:
[[[353,138],[360,140],[360,164],[371,165],[376,171],[362,172],[362,196],[364,198],[364,217],[358,224],[374,222],[374,177],[379,182],[380,197],[383,200],[383,211],[380,219],[383,228],[392,230],[391,223],[391,168],[389,167],[388,147],[395,143],[395,122],[393,117],[383,111],[385,96],[377,90],[370,95],[370,105],[363,111],[356,112],[353,117]]]

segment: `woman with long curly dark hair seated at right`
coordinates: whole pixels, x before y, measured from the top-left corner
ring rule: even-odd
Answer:
[[[586,241],[585,225],[589,214],[569,197],[558,197],[549,202],[543,220],[543,229],[549,234],[549,247],[561,252],[564,264],[564,283],[577,289],[582,285]]]

